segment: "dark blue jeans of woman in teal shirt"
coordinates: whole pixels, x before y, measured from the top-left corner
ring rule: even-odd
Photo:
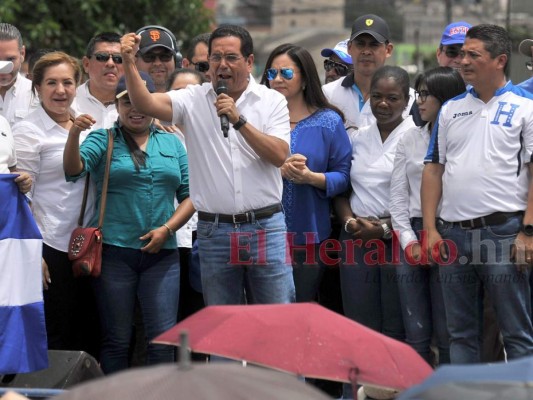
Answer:
[[[104,245],[102,274],[94,280],[102,323],[103,371],[129,367],[128,350],[135,298],[139,298],[148,341],[172,328],[178,314],[180,264],[177,250],[157,254]],[[147,364],[174,361],[174,347],[148,344]]]

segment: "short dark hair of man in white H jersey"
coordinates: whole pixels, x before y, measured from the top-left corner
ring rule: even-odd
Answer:
[[[480,24],[470,28],[466,33],[466,37],[481,40],[485,50],[489,52],[493,59],[505,54],[507,56],[507,62],[505,63],[503,72],[506,75],[509,73],[512,40],[504,28],[498,25]]]

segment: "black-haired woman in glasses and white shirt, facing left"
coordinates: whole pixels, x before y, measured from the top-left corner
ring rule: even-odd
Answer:
[[[426,124],[407,131],[396,149],[391,179],[390,212],[392,226],[399,234],[405,260],[398,268],[398,288],[405,325],[406,342],[422,358],[432,362],[430,344],[436,338],[439,364],[450,362],[444,301],[438,266],[422,259],[420,186],[423,160],[431,129],[442,104],[466,88],[459,72],[438,67],[419,75],[415,81],[416,101]],[[442,224],[437,223],[437,228]],[[445,268],[445,267],[444,267]]]

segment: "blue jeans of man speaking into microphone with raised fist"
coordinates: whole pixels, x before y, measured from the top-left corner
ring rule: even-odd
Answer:
[[[283,213],[233,224],[198,221],[198,251],[206,305],[294,302],[292,267],[287,262]]]

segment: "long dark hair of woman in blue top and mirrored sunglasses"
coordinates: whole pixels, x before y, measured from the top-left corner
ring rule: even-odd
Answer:
[[[272,50],[272,52],[268,56],[268,60],[265,65],[265,70],[263,71],[261,84],[266,85],[268,88],[270,88],[270,82],[267,79],[266,72],[272,66],[272,61],[274,60],[274,58],[282,54],[286,54],[287,56],[289,56],[290,59],[300,69],[300,73],[302,76],[302,86],[304,88],[303,94],[305,103],[313,108],[329,108],[339,114],[342,120],[344,121],[344,114],[342,113],[342,111],[335,107],[333,104],[331,104],[324,95],[313,57],[303,47],[296,46],[292,43],[285,43],[279,45],[274,50]]]

